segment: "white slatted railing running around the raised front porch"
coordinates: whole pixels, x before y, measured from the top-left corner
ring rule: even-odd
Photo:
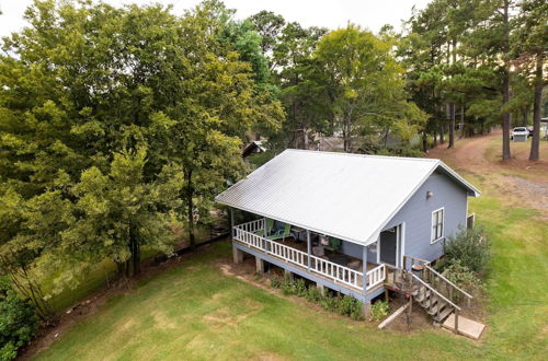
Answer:
[[[312,272],[319,273],[335,282],[344,283],[356,289],[362,289],[359,284],[363,279],[363,272],[349,267],[341,266],[328,259],[310,255],[310,268],[308,268],[308,254],[286,246],[278,242],[267,240],[256,233],[264,230],[264,219],[235,225],[232,237],[250,247],[258,248],[266,254],[282,258],[283,260],[307,268]],[[386,267],[380,265],[366,273],[367,290],[380,284],[386,278]]]

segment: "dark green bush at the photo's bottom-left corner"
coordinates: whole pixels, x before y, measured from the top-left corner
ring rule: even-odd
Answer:
[[[0,360],[12,360],[34,336],[37,318],[30,303],[15,294],[11,283],[0,278]]]

